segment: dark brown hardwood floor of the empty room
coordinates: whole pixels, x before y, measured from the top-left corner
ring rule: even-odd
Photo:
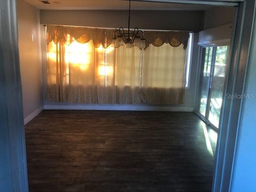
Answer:
[[[25,134],[30,192],[211,191],[193,113],[44,110]]]

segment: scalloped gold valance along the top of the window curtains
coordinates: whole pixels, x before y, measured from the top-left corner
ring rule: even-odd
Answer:
[[[47,44],[51,41],[55,44],[70,44],[74,38],[79,43],[87,43],[92,40],[95,48],[98,48],[100,45],[102,45],[103,48],[107,48],[111,44],[115,30],[48,25],[46,32]],[[70,35],[70,37],[68,35]],[[150,44],[160,47],[166,43],[170,44],[172,47],[178,47],[183,44],[183,48],[186,49],[188,45],[189,32],[144,31],[144,38],[146,39],[146,48]]]

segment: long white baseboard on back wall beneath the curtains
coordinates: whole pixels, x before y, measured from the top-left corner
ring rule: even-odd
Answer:
[[[193,107],[158,107],[136,105],[44,105],[44,109],[58,110],[109,110],[109,111],[177,111],[192,112]]]

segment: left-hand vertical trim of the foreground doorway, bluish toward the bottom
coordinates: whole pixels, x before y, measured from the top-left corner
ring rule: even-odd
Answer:
[[[28,192],[16,1],[0,7],[0,191]]]

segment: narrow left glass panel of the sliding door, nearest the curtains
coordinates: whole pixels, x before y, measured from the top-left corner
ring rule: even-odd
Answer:
[[[208,102],[208,93],[210,85],[210,76],[211,76],[211,65],[212,65],[212,56],[213,56],[213,47],[203,48],[204,59],[202,63],[202,76],[201,76],[201,93],[200,93],[200,107],[199,112],[206,116],[206,108]]]

